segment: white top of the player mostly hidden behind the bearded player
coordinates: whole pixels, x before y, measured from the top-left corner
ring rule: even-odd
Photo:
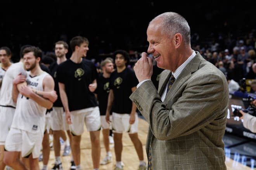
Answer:
[[[22,62],[10,65],[8,70],[5,72],[0,91],[0,105],[16,107],[16,104],[12,100],[12,81],[19,73],[26,75]]]

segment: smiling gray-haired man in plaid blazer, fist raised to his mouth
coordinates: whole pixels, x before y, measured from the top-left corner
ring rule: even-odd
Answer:
[[[222,138],[229,93],[224,74],[192,50],[190,27],[175,12],[149,23],[147,41],[147,52],[165,69],[157,91],[147,53],[134,67],[140,83],[130,99],[149,123],[148,169],[226,170]],[[175,81],[169,86],[171,75]]]

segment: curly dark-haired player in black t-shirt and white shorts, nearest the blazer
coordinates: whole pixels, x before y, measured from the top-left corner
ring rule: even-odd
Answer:
[[[138,80],[134,71],[126,67],[130,61],[129,54],[126,51],[117,50],[113,53],[113,56],[115,58],[116,70],[110,76],[106,121],[110,122],[109,116],[112,109],[116,168],[123,169],[121,164],[122,135],[123,132],[128,132],[140,160],[140,169],[146,169],[147,165],[144,162],[142,143],[138,138],[137,107],[129,99],[131,93],[136,90]]]

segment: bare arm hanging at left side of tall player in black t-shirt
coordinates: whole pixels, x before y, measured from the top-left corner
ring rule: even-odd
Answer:
[[[60,90],[60,96],[61,96],[61,102],[64,107],[65,113],[66,113],[66,121],[67,124],[71,124],[71,116],[70,116],[70,111],[68,107],[68,99],[67,99],[67,93],[65,90],[65,84],[59,82],[59,90]]]

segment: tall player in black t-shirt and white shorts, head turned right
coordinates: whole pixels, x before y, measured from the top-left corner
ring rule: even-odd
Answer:
[[[66,121],[72,133],[72,153],[76,170],[80,170],[80,141],[83,134],[83,122],[90,131],[93,168],[100,163],[100,111],[94,91],[97,88],[98,76],[94,64],[83,59],[86,56],[89,41],[76,36],[70,41],[72,55],[57,68],[59,91]]]

